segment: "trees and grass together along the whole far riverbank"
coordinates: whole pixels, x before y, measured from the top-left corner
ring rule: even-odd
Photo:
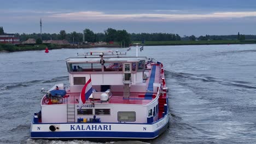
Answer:
[[[0,27],[3,34],[3,27]],[[126,30],[116,30],[108,28],[103,33],[94,33],[85,28],[82,33],[67,33],[61,30],[60,33],[15,33],[20,41],[36,39],[36,44],[0,44],[0,51],[27,51],[61,49],[61,48],[82,48],[82,47],[127,47],[132,43],[142,43],[144,45],[215,45],[215,44],[256,44],[256,35],[244,35],[238,32],[237,35],[195,35],[183,37],[173,33],[128,33]],[[44,40],[68,40],[68,45],[57,45],[44,43]],[[106,41],[104,45],[94,45],[98,41]],[[112,45],[111,45],[112,44]]]

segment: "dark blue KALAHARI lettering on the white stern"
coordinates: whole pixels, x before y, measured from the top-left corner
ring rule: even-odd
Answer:
[[[111,130],[111,125],[86,125],[86,124],[78,124],[78,125],[70,125],[70,130]]]

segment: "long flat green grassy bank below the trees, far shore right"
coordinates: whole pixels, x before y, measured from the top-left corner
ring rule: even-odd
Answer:
[[[141,43],[141,41],[132,41]],[[145,45],[223,45],[223,44],[256,44],[256,40],[194,40],[194,41],[145,41]]]

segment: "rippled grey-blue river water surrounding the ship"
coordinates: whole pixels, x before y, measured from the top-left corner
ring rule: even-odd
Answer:
[[[30,139],[40,89],[68,83],[65,58],[90,50],[120,49],[0,53],[0,143],[99,143]],[[146,143],[256,143],[255,44],[144,46],[139,56],[164,63],[170,89],[170,128]]]

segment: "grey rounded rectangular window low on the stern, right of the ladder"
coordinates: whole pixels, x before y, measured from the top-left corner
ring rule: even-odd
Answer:
[[[135,122],[136,112],[135,111],[119,111],[118,121],[119,122]]]

